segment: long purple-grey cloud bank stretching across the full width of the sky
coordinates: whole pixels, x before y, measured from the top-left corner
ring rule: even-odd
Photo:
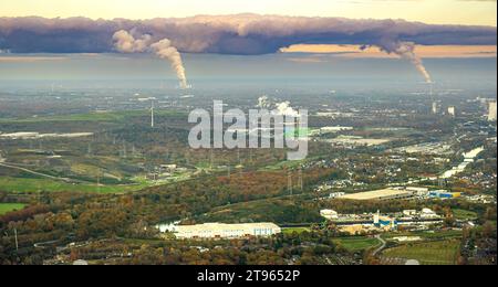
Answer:
[[[299,43],[414,42],[425,45],[496,45],[492,26],[433,25],[403,20],[350,20],[239,14],[133,21],[84,18],[0,18],[0,51],[12,53],[115,52],[113,34],[132,31],[169,39],[179,52],[266,54]]]

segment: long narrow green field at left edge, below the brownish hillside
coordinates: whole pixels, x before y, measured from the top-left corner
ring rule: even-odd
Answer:
[[[137,191],[144,188],[146,188],[145,184],[97,187],[96,184],[72,184],[51,179],[20,179],[11,177],[0,178],[0,190],[7,192],[76,191],[76,192],[120,193],[120,192]]]

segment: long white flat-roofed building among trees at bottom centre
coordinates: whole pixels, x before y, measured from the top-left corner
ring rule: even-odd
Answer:
[[[268,237],[282,230],[273,223],[224,224],[205,223],[175,226],[177,238],[241,238],[250,236]]]

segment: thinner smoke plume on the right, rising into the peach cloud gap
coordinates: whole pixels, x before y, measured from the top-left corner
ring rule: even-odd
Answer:
[[[433,79],[427,68],[424,66],[422,59],[415,53],[415,43],[413,42],[400,42],[400,41],[383,41],[378,45],[382,51],[391,54],[394,53],[400,57],[406,59],[415,65],[417,71],[424,76],[427,84],[432,84]]]

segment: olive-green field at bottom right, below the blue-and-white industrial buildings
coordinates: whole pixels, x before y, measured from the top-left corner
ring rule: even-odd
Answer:
[[[459,241],[425,242],[385,249],[384,258],[416,259],[422,265],[455,265],[458,259]]]

